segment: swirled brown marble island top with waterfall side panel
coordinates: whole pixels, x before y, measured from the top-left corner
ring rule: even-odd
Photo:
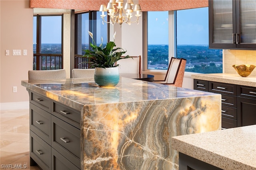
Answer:
[[[177,170],[171,137],[221,128],[221,95],[121,77],[22,80],[22,86],[81,111],[81,169]]]

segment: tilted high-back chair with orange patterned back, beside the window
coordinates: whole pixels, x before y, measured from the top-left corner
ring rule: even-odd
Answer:
[[[155,80],[154,82],[182,87],[185,68],[186,59],[176,59],[172,57],[164,80]]]

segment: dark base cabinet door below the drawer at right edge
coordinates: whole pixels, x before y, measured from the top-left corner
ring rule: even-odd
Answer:
[[[256,125],[256,100],[237,97],[237,125]]]

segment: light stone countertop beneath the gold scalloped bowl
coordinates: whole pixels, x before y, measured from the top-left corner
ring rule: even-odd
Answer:
[[[208,80],[213,82],[222,82],[222,83],[256,87],[256,76],[242,77],[239,74],[214,73],[214,74],[192,74],[191,78],[199,79],[199,80]]]

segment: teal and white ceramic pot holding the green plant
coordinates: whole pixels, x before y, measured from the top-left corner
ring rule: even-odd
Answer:
[[[118,67],[95,68],[94,81],[98,86],[113,87],[119,82]]]

